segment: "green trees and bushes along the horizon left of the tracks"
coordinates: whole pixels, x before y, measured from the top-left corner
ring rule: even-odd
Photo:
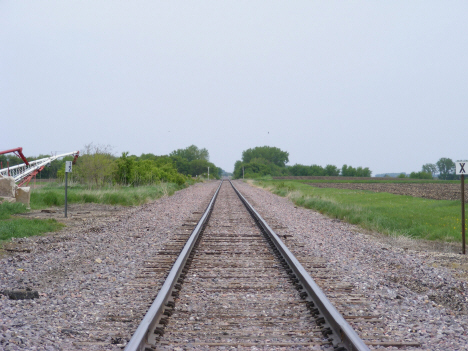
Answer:
[[[0,155],[3,168],[7,162],[10,167],[22,163],[15,155]],[[49,157],[39,155],[38,157],[27,157],[28,161]],[[65,161],[71,161],[73,156],[67,156],[60,160],[52,161],[38,175],[37,178],[59,178],[65,177]],[[209,161],[207,149],[199,149],[191,145],[185,149],[178,149],[169,155],[155,155],[152,153],[140,156],[129,155],[123,152],[120,157],[112,153],[112,148],[106,145],[85,145],[80,151],[73,172],[69,175],[70,180],[92,185],[102,186],[110,184],[139,186],[150,185],[156,182],[171,182],[179,185],[184,184],[192,177],[208,176],[219,179],[223,170]]]

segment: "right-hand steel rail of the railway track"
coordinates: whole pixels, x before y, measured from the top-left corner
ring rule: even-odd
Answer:
[[[322,289],[315,283],[312,277],[307,273],[304,267],[296,259],[296,257],[289,251],[286,245],[281,241],[278,235],[270,228],[260,214],[250,205],[245,197],[236,189],[234,184],[231,183],[234,191],[237,193],[241,201],[244,203],[247,210],[255,218],[258,225],[271,239],[276,249],[280,252],[283,259],[288,263],[290,269],[297,276],[301,282],[304,290],[308,293],[308,301],[312,301],[316,308],[318,308],[320,315],[325,318],[326,323],[323,328],[331,328],[332,334],[329,335],[333,339],[335,349],[345,348],[348,351],[369,351],[369,347],[357,335],[354,329],[346,322],[343,316],[331,304],[328,298],[323,293]]]

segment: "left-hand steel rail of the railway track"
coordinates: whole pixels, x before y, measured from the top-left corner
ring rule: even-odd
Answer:
[[[161,290],[156,296],[156,299],[152,303],[145,317],[143,318],[137,330],[135,331],[132,338],[125,347],[125,351],[144,351],[147,346],[154,346],[152,345],[150,340],[152,336],[151,334],[154,333],[154,328],[156,328],[159,320],[161,319],[164,313],[165,305],[171,298],[174,286],[176,285],[177,280],[179,279],[179,276],[185,267],[187,259],[189,258],[190,253],[192,252],[192,249],[195,246],[197,239],[203,230],[203,227],[205,226],[206,222],[210,217],[211,211],[213,210],[213,205],[216,201],[216,197],[218,196],[219,189],[221,188],[222,184],[223,181],[220,182],[218,189],[216,189],[215,194],[213,195],[208,207],[205,210],[205,213],[198,221],[198,224],[196,225],[189,239],[185,243],[184,248],[182,249],[174,265],[172,266],[172,269],[169,272],[169,275],[167,276],[163,286],[161,287]]]

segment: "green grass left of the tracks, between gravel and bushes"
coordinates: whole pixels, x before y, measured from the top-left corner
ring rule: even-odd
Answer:
[[[107,187],[89,189],[73,185],[68,187],[68,203],[98,203],[121,206],[137,206],[148,201],[170,196],[182,189],[173,183],[160,183],[141,187]],[[51,206],[64,206],[65,189],[63,184],[47,184],[32,189],[31,209],[44,209]],[[22,238],[57,231],[64,225],[53,219],[30,219],[15,216],[28,210],[23,204],[0,204],[0,242],[11,238]]]

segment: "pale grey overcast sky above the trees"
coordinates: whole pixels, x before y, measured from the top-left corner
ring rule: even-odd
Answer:
[[[0,1],[0,149],[468,159],[467,1]]]

